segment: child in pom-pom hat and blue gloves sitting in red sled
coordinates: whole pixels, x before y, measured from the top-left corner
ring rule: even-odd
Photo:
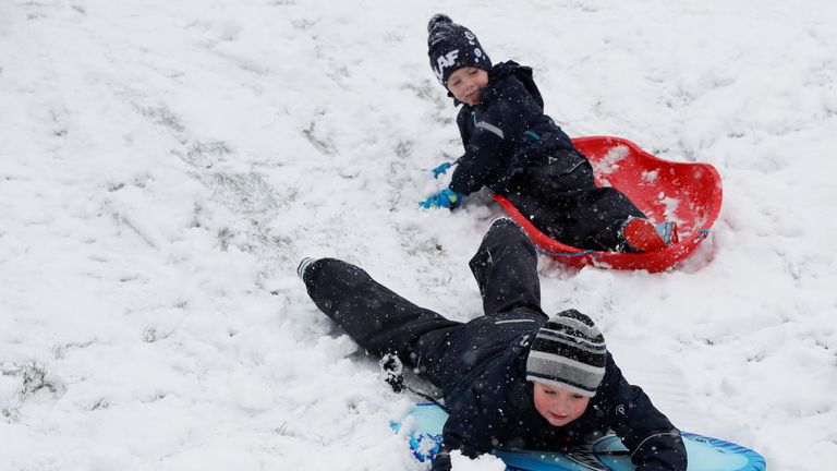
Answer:
[[[587,159],[544,114],[532,69],[513,61],[492,65],[476,36],[444,14],[427,28],[430,67],[454,105],[462,105],[457,124],[465,154],[449,186],[423,207],[453,208],[488,186],[568,245],[648,252],[676,242],[674,224],[655,226],[624,194],[596,186]],[[434,174],[449,167],[442,164]]]

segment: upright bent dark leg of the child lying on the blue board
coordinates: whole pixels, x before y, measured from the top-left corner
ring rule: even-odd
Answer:
[[[542,312],[537,253],[523,229],[511,219],[492,224],[470,266],[486,315],[515,307]]]

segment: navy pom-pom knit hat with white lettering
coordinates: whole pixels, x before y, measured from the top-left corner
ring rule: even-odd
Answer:
[[[492,60],[483,51],[476,36],[466,27],[453,23],[444,13],[433,15],[427,23],[427,56],[430,69],[439,83],[447,86],[448,77],[463,67],[485,71],[492,68]]]

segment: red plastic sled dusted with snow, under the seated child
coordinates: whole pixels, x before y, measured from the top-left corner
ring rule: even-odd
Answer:
[[[532,226],[508,200],[495,195],[494,200],[543,253],[575,268],[593,265],[663,271],[688,257],[706,239],[723,196],[715,167],[658,159],[621,137],[579,137],[572,143],[590,159],[597,184],[624,193],[654,222],[677,222],[680,242],[647,253],[596,252],[565,245]]]

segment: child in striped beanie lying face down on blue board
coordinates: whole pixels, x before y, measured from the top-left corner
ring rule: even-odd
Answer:
[[[493,222],[470,266],[485,315],[464,324],[338,259],[298,269],[317,307],[361,347],[397,354],[442,391],[450,415],[434,471],[450,470],[452,450],[562,450],[608,430],[638,470],[686,470],[680,432],[622,377],[590,317],[544,314],[535,247],[517,224]]]

